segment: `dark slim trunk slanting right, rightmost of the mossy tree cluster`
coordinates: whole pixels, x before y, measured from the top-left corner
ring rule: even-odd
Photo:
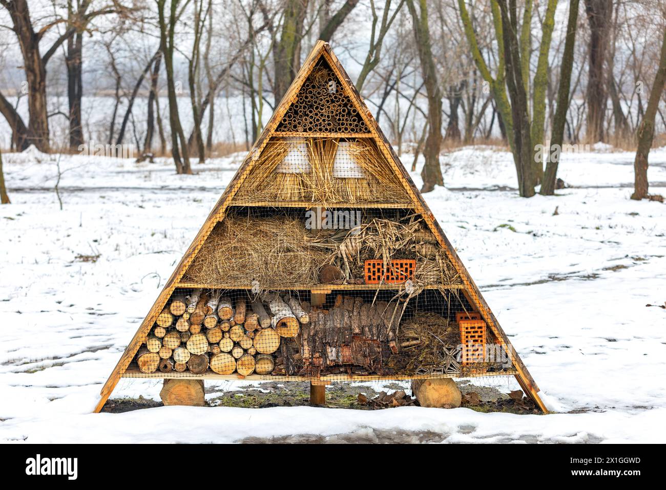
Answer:
[[[578,22],[578,1],[571,0],[569,4],[569,20],[567,21],[567,33],[564,41],[564,53],[562,55],[561,69],[559,73],[559,87],[557,88],[557,109],[553,118],[553,131],[551,136],[551,147],[549,158],[545,166],[545,172],[541,182],[540,194],[552,196],[555,193],[555,181],[557,180],[557,164],[559,154],[564,140],[564,126],[567,121],[567,109],[569,109],[569,89],[571,87],[571,71],[573,69],[573,48],[576,41],[576,27]]]

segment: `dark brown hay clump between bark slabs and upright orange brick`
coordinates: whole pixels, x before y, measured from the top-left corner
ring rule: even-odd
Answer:
[[[419,312],[400,325],[398,354],[390,356],[388,366],[396,372],[414,374],[418,369],[432,369],[446,364],[443,348],[460,344],[456,322],[434,314]]]

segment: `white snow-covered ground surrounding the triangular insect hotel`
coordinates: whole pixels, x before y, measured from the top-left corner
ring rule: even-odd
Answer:
[[[183,427],[172,431],[173,442],[666,441],[666,310],[645,306],[666,301],[666,206],[629,200],[633,154],[604,148],[566,155],[559,176],[571,187],[531,199],[517,196],[507,152],[461,148],[442,157],[446,188],[426,195],[558,413],[159,407],[90,414],[241,159],[176,176],[165,160],[3,154],[13,204],[0,206],[0,441],[165,441],[165,424]],[[666,148],[650,161],[651,192],[666,194]],[[414,180],[420,185],[418,174]],[[157,397],[159,384],[124,379],[112,396]]]

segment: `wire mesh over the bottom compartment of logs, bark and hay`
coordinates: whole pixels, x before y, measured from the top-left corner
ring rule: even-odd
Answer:
[[[126,375],[466,377],[513,373],[457,290],[177,288]],[[480,332],[483,332],[480,335]]]

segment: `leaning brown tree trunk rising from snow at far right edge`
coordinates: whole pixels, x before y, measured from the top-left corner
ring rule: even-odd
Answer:
[[[631,198],[641,200],[647,197],[647,156],[652,146],[652,140],[655,135],[655,115],[657,115],[657,108],[659,107],[659,99],[664,91],[666,84],[666,29],[663,33],[661,41],[661,57],[659,58],[659,69],[655,75],[655,81],[652,84],[650,91],[650,99],[647,103],[645,116],[638,127],[638,148],[636,150],[636,158],[633,161],[634,169],[634,184],[633,194]]]

